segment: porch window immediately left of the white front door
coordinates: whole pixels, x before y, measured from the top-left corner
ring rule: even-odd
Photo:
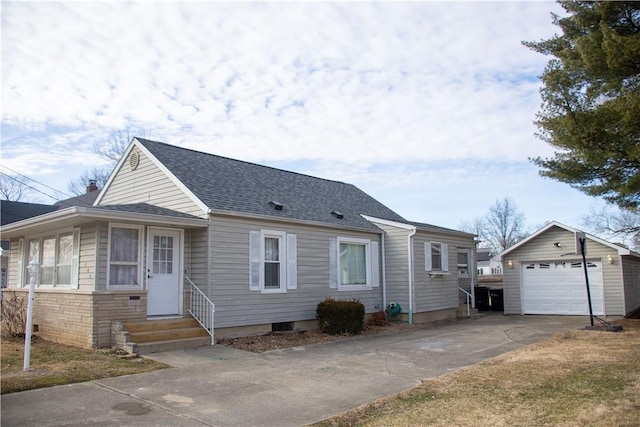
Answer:
[[[140,286],[142,229],[136,226],[109,227],[109,287]]]

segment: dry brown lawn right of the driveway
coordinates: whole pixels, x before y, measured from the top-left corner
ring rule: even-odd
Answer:
[[[318,426],[637,426],[640,320],[572,331]]]

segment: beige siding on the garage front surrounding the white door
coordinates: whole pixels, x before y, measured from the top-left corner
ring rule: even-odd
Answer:
[[[554,246],[559,242],[560,246]],[[621,315],[624,312],[622,270],[616,250],[587,239],[587,260],[602,263],[604,302],[606,315]],[[504,310],[506,314],[522,314],[521,271],[529,262],[566,261],[578,262],[581,255],[575,253],[574,234],[560,227],[552,227],[536,238],[509,252],[502,259],[504,265]],[[607,256],[611,254],[617,261],[611,265]],[[513,261],[513,268],[509,267]]]

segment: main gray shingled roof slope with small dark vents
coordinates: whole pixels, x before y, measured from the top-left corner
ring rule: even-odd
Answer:
[[[360,215],[405,222],[351,184],[136,139],[212,210],[377,231]],[[282,210],[271,201],[281,203]]]

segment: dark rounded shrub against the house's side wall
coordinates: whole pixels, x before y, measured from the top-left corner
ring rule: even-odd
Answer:
[[[364,304],[327,297],[316,308],[320,330],[330,335],[357,335],[364,329]]]

